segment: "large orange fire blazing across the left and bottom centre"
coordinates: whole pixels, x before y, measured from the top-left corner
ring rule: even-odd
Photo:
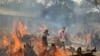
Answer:
[[[45,26],[40,28],[40,30],[46,29]],[[11,36],[7,36],[7,32],[3,32],[3,45],[6,56],[69,56],[71,52],[69,50],[62,50],[59,47],[56,47],[53,50],[48,50],[45,48],[39,39],[34,39],[30,41],[23,41],[22,39],[26,37],[30,38],[30,35],[27,33],[27,27],[21,22],[17,22],[17,25],[14,25],[14,29],[10,33]],[[8,38],[11,38],[9,40]]]

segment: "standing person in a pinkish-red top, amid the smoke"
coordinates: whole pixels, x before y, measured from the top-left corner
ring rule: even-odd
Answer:
[[[66,28],[63,27],[59,32],[58,32],[58,37],[61,42],[61,46],[65,49],[65,37],[66,37]]]

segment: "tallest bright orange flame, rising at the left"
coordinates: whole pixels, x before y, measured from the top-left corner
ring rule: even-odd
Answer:
[[[11,34],[14,42],[12,46],[12,52],[16,53],[15,56],[24,56],[24,47],[20,37],[23,37],[26,34],[26,28],[21,22],[18,23],[17,31],[19,32],[16,32],[16,29],[14,28]],[[20,35],[18,35],[18,33],[20,33]],[[19,52],[20,50],[22,50],[22,52]]]

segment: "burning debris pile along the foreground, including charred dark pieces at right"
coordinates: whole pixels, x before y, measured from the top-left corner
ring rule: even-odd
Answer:
[[[10,36],[2,31],[3,46],[0,48],[0,56],[92,56],[96,48],[89,53],[82,53],[81,47],[75,50],[73,47],[62,49],[51,43],[46,49],[41,39],[26,32],[26,27],[21,23],[14,26]],[[10,39],[9,39],[10,38]],[[77,54],[73,54],[76,52]]]

